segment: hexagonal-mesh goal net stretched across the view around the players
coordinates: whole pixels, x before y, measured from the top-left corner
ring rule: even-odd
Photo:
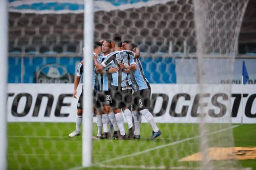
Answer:
[[[9,0],[8,169],[83,169],[82,158],[90,153],[82,153],[82,140],[92,136],[68,135],[82,117],[77,116],[82,79],[77,99],[72,93],[86,34],[94,35],[93,41],[118,36],[132,50],[138,47],[136,69],[151,91],[146,108],[128,108],[133,124],[127,110],[121,112],[126,134],[132,127],[140,139],[112,139],[115,128],[122,129],[110,123],[108,139],[92,139],[91,169],[241,169],[232,129],[242,115],[233,106],[232,94],[239,91],[231,80],[247,3],[94,0],[94,31],[85,33],[82,0]],[[130,70],[127,76],[136,84],[133,74]],[[112,74],[108,81],[113,79]],[[83,95],[84,102],[93,98]],[[107,118],[94,114],[95,138],[115,109],[110,107]],[[118,111],[112,114],[118,123]],[[156,139],[148,140],[152,130]]]

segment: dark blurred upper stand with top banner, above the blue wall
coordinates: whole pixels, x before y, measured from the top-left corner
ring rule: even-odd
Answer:
[[[9,52],[80,55],[83,0],[9,0]],[[94,38],[121,35],[147,54],[196,53],[192,0],[96,0]],[[103,4],[103,5],[102,5]],[[187,5],[190,4],[190,5]],[[256,55],[256,2],[250,0],[239,53]],[[170,44],[171,43],[171,44]]]

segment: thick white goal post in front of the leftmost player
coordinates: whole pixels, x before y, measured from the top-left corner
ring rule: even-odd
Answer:
[[[84,73],[82,166],[92,164],[92,52],[94,39],[94,0],[84,0]]]

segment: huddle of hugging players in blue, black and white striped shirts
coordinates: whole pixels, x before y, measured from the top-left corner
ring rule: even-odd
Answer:
[[[98,134],[96,139],[140,139],[142,115],[152,127],[155,139],[162,133],[154,117],[147,109],[150,106],[150,84],[140,62],[140,51],[130,41],[122,42],[116,36],[112,40],[94,42],[93,70],[93,112],[97,117]],[[76,97],[80,77],[83,75],[83,62],[79,63],[74,82],[73,97]],[[69,137],[79,136],[83,113],[83,92],[77,105],[76,130]],[[124,128],[124,117],[128,123],[128,135]],[[109,121],[114,133],[110,135]],[[103,134],[102,134],[103,127]]]

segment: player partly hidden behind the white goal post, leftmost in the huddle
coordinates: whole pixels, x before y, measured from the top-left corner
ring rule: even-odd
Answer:
[[[100,42],[94,42],[94,56],[98,56],[101,53],[101,47],[102,47],[102,43]],[[76,96],[76,89],[78,87],[78,84],[80,82],[80,78],[81,75],[84,76],[83,73],[83,64],[79,63],[78,67],[77,67],[77,71],[76,71],[76,80],[74,82],[74,91],[73,91],[73,97],[77,99]],[[94,71],[93,71],[93,77],[92,77],[92,89],[93,89],[93,95],[94,95],[94,100],[93,103],[96,103],[96,99],[95,99],[95,95],[96,95],[96,68],[94,67]],[[83,87],[82,87],[83,89]],[[95,107],[94,107],[95,108]],[[95,110],[95,109],[94,109]],[[76,117],[76,130],[74,130],[72,133],[70,133],[68,136],[69,137],[74,137],[74,136],[79,136],[81,134],[81,124],[82,124],[82,114],[83,114],[83,90],[82,93],[78,99],[78,103],[77,103],[77,117]],[[98,114],[98,113],[96,113]],[[97,124],[98,126],[98,124]],[[102,126],[101,126],[102,127]],[[99,134],[100,131],[100,134]],[[102,129],[100,129],[100,126],[98,126],[98,135],[101,135],[101,131]]]

